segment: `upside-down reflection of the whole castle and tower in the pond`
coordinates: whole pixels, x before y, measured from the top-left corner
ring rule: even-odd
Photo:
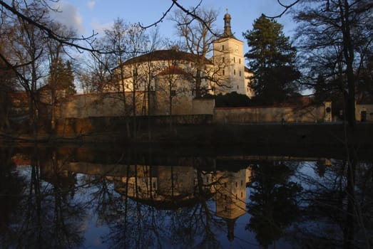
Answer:
[[[192,166],[138,166],[134,176],[115,177],[116,191],[158,208],[180,208],[197,203],[200,196],[215,200],[215,215],[228,225],[234,238],[235,221],[246,213],[246,185],[250,170],[198,171]],[[200,192],[202,191],[202,193]]]

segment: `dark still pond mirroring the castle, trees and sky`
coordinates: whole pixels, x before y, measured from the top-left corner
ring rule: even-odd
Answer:
[[[373,245],[369,154],[118,144],[0,151],[0,248]]]

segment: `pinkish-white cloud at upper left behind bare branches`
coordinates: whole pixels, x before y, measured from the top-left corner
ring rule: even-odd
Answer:
[[[58,12],[52,12],[51,17],[68,28],[75,30],[78,35],[84,33],[83,19],[76,6],[60,1],[56,4]]]

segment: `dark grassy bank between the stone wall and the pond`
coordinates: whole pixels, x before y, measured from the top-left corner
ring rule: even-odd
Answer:
[[[41,142],[153,142],[168,144],[296,144],[341,146],[346,142],[372,147],[373,123],[359,123],[354,131],[344,124],[173,124],[138,127],[136,137],[127,136],[126,126],[64,129],[55,135],[41,132]],[[68,132],[66,132],[68,131]],[[32,140],[26,134],[2,134],[2,140]]]

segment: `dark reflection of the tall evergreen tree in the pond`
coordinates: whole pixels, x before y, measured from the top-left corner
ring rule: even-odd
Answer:
[[[297,217],[296,195],[301,187],[290,181],[294,172],[284,162],[252,164],[251,169],[252,192],[247,207],[252,217],[246,228],[254,231],[260,245],[267,248]]]

